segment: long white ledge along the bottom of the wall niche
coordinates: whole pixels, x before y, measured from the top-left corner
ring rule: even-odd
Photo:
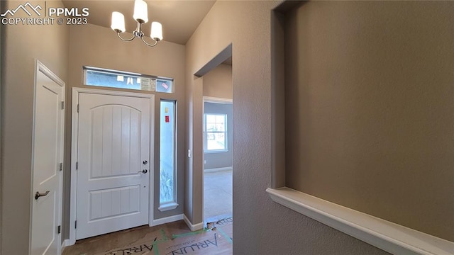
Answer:
[[[454,254],[454,242],[292,188],[267,188],[267,193],[276,203],[392,254]]]

